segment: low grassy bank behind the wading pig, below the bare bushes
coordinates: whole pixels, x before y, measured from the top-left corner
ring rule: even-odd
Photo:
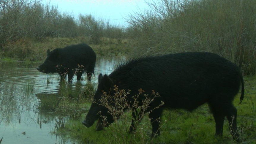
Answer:
[[[128,40],[118,43],[115,40],[103,39],[103,44],[89,46],[95,51],[97,56],[126,56],[131,51],[127,45]],[[40,41],[29,38],[19,39],[15,42],[9,42],[4,45],[0,52],[0,59],[17,61],[44,61],[47,57],[47,50],[55,48],[64,48],[68,45],[79,43],[88,43],[85,37],[77,38],[52,38],[46,37]]]

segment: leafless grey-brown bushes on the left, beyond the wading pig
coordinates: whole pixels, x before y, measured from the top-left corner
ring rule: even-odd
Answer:
[[[122,26],[115,28],[124,33]],[[103,37],[116,38],[116,33],[108,32],[110,29],[113,26],[108,20],[83,14],[75,18],[41,0],[0,0],[1,46],[21,38],[42,40],[45,37],[86,37],[88,43],[102,44]]]

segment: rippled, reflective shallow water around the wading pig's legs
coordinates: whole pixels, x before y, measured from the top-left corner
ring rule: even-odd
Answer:
[[[97,83],[99,73],[110,74],[120,58],[97,58],[92,77]],[[38,113],[35,106],[40,104],[40,95],[58,95],[61,85],[57,74],[44,74],[37,71],[40,63],[0,62],[0,139],[2,144],[69,144],[75,141],[65,139],[52,132],[56,129],[57,114]],[[72,91],[78,90],[87,82],[72,83]]]

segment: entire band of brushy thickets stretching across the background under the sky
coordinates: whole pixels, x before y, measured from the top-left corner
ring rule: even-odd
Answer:
[[[255,0],[153,0],[148,5],[127,15],[124,27],[92,15],[75,18],[41,0],[0,0],[0,55],[26,60],[42,52],[35,41],[45,48],[49,37],[71,38],[69,44],[125,43],[130,56],[207,51],[256,74]]]

